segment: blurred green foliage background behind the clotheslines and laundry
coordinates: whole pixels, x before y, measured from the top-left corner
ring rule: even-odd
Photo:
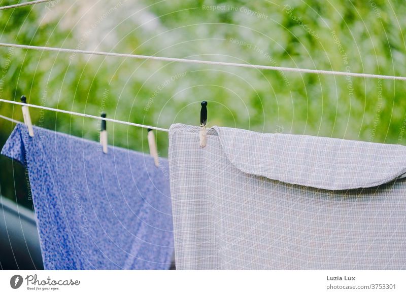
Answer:
[[[14,4],[2,1],[1,5]],[[215,7],[214,7],[215,6]],[[0,42],[406,76],[401,1],[67,1],[0,12]],[[406,83],[0,48],[0,96],[168,128],[209,125],[403,144]],[[30,109],[34,124],[97,140],[96,120]],[[0,114],[22,120],[21,108]],[[14,124],[0,119],[0,144]],[[148,153],[146,130],[109,143]],[[167,156],[167,134],[157,132]],[[0,158],[0,193],[30,206],[24,170]]]

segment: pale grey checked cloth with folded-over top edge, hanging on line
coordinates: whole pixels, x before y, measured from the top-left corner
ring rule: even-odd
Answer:
[[[406,269],[406,147],[170,129],[177,269]]]

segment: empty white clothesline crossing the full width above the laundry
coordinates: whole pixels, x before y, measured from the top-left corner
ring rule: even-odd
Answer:
[[[21,45],[21,44],[10,44],[10,43],[0,43],[0,46],[1,47],[23,48],[23,49],[33,49],[33,50],[67,52],[67,53],[82,53],[82,54],[90,54],[90,55],[128,57],[128,58],[146,59],[146,60],[152,59],[152,60],[163,60],[163,61],[171,61],[171,62],[186,62],[186,63],[197,63],[197,64],[248,67],[248,68],[265,69],[265,70],[316,73],[316,74],[321,74],[321,75],[338,75],[338,76],[352,76],[352,77],[361,77],[361,78],[406,81],[406,77],[401,77],[401,76],[386,76],[386,75],[375,75],[375,74],[368,74],[368,73],[353,73],[353,72],[346,72],[346,71],[294,68],[294,67],[258,65],[258,64],[244,64],[244,63],[209,61],[209,60],[198,60],[198,59],[183,59],[183,58],[174,58],[174,57],[160,57],[160,56],[125,54],[125,53],[114,53],[114,52],[103,52],[103,51],[90,51],[90,50],[56,48],[56,47],[46,47],[46,46],[32,46],[32,45]]]

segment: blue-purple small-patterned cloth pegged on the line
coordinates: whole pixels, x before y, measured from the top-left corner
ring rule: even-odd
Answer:
[[[21,124],[2,154],[28,170],[45,269],[171,267],[167,160]]]

